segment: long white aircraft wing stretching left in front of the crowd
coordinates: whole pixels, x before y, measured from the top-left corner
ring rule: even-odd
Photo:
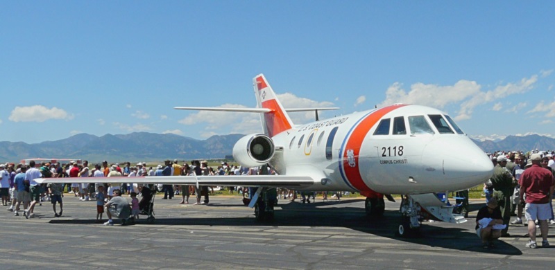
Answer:
[[[40,178],[37,183],[162,183],[168,185],[199,186],[264,186],[275,188],[298,188],[314,185],[311,177],[287,175],[215,175],[215,176],[171,176],[171,177],[72,177]]]

